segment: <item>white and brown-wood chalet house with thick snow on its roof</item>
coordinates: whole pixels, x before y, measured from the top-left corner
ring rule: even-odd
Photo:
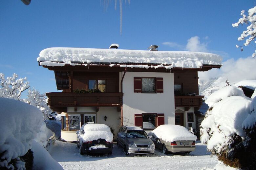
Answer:
[[[39,65],[54,71],[48,104],[62,116],[61,139],[76,141],[85,123],[150,131],[162,124],[196,128],[202,105],[198,72],[220,68],[215,54],[90,48],[47,48]]]

